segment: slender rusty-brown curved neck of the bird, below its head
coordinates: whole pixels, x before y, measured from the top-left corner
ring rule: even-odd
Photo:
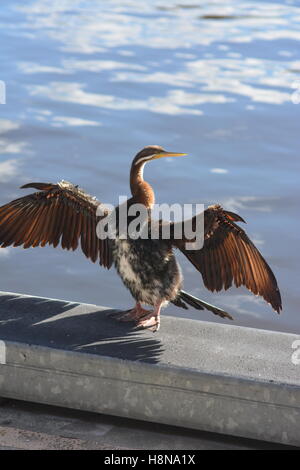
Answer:
[[[137,165],[132,164],[130,171],[130,189],[135,202],[144,204],[147,208],[151,209],[155,202],[155,197],[152,187],[144,180],[144,166],[145,162],[141,162]]]

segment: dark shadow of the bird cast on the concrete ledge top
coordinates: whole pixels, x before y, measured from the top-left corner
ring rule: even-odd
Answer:
[[[120,323],[116,310],[60,300],[0,295],[0,339],[157,363],[163,347],[150,331]]]

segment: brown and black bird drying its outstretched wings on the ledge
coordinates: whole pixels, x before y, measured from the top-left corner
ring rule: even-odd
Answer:
[[[23,246],[26,249],[60,245],[74,251],[80,246],[92,262],[98,261],[107,269],[114,266],[135,301],[133,308],[118,312],[116,319],[133,322],[136,329],[158,331],[161,309],[169,303],[183,309],[206,309],[221,318],[233,319],[222,308],[183,290],[183,275],[176,251],[182,252],[195,271],[201,273],[204,286],[209,291],[227,290],[232,285],[245,286],[280,313],[281,295],[270,266],[238,225],[245,222],[244,219],[221,205],[211,205],[203,211],[201,247],[188,249],[187,242],[194,239],[187,238],[184,233],[180,237],[175,236],[178,224],[184,221],[156,220],[153,226],[158,228],[158,237],[128,236],[129,225],[135,220],[129,214],[135,204],[145,208],[146,222],[153,221],[155,194],[144,179],[145,165],[156,159],[185,155],[166,151],[158,145],[148,145],[136,154],[130,169],[131,197],[125,201],[128,216],[126,236],[118,221],[111,232],[113,236],[111,233],[106,238],[98,236],[97,230],[99,223],[103,226],[106,223],[107,228],[112,214],[116,217],[124,209],[122,205],[109,210],[78,185],[62,180],[55,184],[24,184],[21,188],[37,191],[0,207],[0,247]],[[196,216],[189,219],[193,227],[196,226]],[[146,227],[148,232],[151,223]],[[144,223],[139,225],[141,228]],[[166,226],[169,237],[164,238],[162,230]]]

